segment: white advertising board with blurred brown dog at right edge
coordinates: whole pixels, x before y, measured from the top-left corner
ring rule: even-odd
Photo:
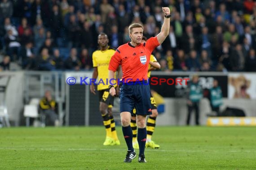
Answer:
[[[256,99],[256,74],[255,73],[229,73],[228,98]]]

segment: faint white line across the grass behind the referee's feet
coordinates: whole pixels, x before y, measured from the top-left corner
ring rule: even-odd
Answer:
[[[57,150],[57,151],[124,151],[125,149],[88,149],[88,148],[0,148],[0,150]],[[163,150],[163,149],[146,149],[146,152],[218,152],[213,150]],[[255,152],[251,150],[227,150],[225,152]]]

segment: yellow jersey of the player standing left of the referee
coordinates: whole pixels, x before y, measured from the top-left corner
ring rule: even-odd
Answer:
[[[110,85],[108,80],[108,65],[114,53],[115,50],[110,47],[105,51],[97,50],[93,52],[93,67],[97,67],[98,70],[97,90],[108,89]]]

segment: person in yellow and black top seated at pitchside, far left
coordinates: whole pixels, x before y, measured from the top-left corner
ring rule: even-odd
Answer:
[[[56,113],[56,102],[52,98],[49,90],[45,91],[44,97],[40,100],[40,110],[46,125],[59,125],[58,115]]]

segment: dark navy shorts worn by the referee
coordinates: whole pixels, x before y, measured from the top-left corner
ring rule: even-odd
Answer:
[[[120,112],[130,112],[134,107],[137,115],[152,115],[150,86],[147,84],[123,84],[120,90]]]

